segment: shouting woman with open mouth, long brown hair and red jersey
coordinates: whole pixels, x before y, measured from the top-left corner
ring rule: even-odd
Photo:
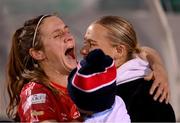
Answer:
[[[21,122],[77,120],[66,89],[76,65],[75,39],[59,17],[26,21],[16,30],[9,55],[8,116]]]

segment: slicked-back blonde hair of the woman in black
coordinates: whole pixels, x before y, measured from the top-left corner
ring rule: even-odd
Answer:
[[[137,42],[136,33],[131,23],[119,16],[104,16],[93,24],[100,24],[108,30],[107,38],[113,43],[121,43],[127,47],[128,58],[133,53],[139,53],[140,48]]]

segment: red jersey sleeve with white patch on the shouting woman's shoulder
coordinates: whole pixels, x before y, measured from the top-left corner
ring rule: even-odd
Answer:
[[[39,122],[58,119],[56,100],[42,85],[28,87],[21,92],[18,113],[22,122]]]

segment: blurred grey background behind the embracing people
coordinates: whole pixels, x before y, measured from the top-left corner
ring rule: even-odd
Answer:
[[[32,17],[58,13],[77,40],[77,54],[87,26],[103,15],[125,17],[141,45],[156,49],[168,70],[171,104],[180,121],[180,0],[0,0],[0,121],[7,120],[5,66],[14,31]]]

